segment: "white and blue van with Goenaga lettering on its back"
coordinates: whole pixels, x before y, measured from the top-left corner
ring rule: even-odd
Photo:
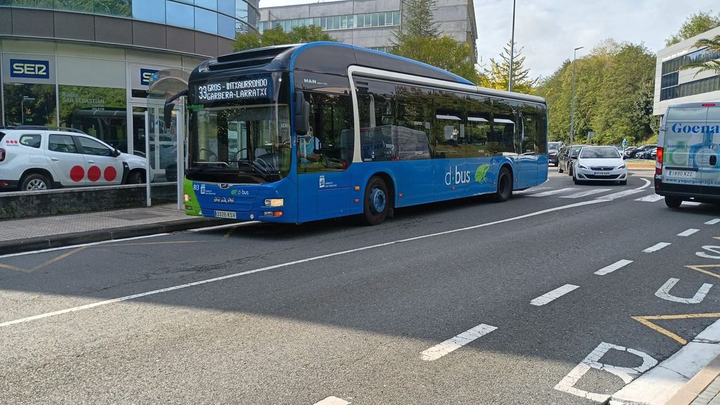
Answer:
[[[668,207],[720,203],[720,102],[667,107],[657,145],[655,192]]]

